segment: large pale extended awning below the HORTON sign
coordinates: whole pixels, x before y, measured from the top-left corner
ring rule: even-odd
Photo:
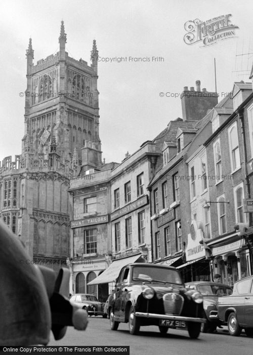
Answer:
[[[146,262],[146,260],[142,258],[142,254],[134,255],[128,258],[114,260],[112,264],[108,267],[108,269],[102,272],[102,274],[100,274],[98,277],[94,278],[94,280],[87,283],[87,285],[97,285],[98,283],[107,283],[107,282],[115,281],[122,267],[128,264],[135,263],[137,261],[140,263]]]

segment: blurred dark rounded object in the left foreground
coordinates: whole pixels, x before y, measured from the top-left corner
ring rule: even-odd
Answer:
[[[85,330],[88,314],[68,300],[69,270],[58,276],[30,263],[21,241],[0,221],[0,345],[46,345],[67,326]]]

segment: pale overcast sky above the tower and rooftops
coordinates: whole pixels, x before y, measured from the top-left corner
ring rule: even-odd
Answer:
[[[133,154],[171,120],[182,117],[180,97],[173,94],[181,94],[184,86],[195,87],[200,80],[201,89],[215,91],[214,58],[219,100],[235,81],[250,82],[252,0],[2,0],[0,9],[0,161],[21,153],[25,99],[19,93],[26,89],[29,38],[34,63],[55,54],[61,20],[69,56],[90,65],[92,43],[97,41],[100,139],[106,162],[121,162],[126,152]],[[227,14],[238,26],[233,38],[209,46],[184,42],[186,22]],[[127,60],[105,61],[114,57]]]

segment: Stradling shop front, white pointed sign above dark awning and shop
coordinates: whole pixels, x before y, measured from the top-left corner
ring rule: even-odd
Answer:
[[[185,247],[186,263],[177,267],[181,271],[184,282],[210,280],[210,264],[206,259],[209,255],[206,255],[202,240],[203,231],[193,220]]]

